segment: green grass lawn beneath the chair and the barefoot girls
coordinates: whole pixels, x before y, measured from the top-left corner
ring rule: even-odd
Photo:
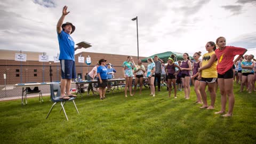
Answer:
[[[234,116],[223,118],[217,93],[214,110],[200,109],[194,103],[191,87],[189,100],[178,91],[178,98],[167,98],[166,87],[149,96],[124,97],[124,93],[107,94],[105,100],[84,96],[76,99],[80,114],[72,102],[65,105],[69,121],[58,103],[49,97],[0,102],[1,143],[256,143],[256,93],[239,93],[235,85]],[[210,102],[210,97],[207,97]]]

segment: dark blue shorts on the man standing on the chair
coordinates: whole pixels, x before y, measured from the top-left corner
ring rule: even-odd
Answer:
[[[76,78],[76,66],[73,60],[60,60],[61,78]]]

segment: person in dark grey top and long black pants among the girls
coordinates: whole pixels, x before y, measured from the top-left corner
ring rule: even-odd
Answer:
[[[154,86],[156,88],[156,79],[157,79],[157,87],[158,92],[161,91],[161,74],[162,74],[162,64],[164,61],[159,59],[157,55],[154,57],[154,63],[155,63],[155,80],[154,80]]]

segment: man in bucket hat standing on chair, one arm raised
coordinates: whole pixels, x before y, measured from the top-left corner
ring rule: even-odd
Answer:
[[[71,79],[76,78],[76,67],[75,67],[75,51],[81,49],[82,46],[75,48],[75,42],[70,36],[75,31],[75,26],[66,22],[63,23],[68,7],[65,5],[62,9],[62,15],[57,23],[57,34],[60,47],[60,65],[61,65],[61,81],[60,81],[60,99],[70,99],[70,97],[77,97],[75,94],[70,93]],[[63,24],[62,24],[63,23]],[[66,94],[65,95],[65,89]]]

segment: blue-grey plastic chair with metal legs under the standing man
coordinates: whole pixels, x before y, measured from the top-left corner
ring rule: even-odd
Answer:
[[[64,114],[65,114],[65,117],[66,117],[67,121],[68,121],[68,117],[67,117],[66,111],[65,111],[65,109],[64,109],[64,105],[65,105],[65,103],[66,103],[67,101],[73,101],[74,106],[75,106],[75,108],[76,108],[76,111],[77,111],[77,113],[79,114],[79,111],[78,111],[78,109],[77,109],[77,107],[76,107],[76,103],[75,103],[75,101],[74,101],[74,99],[76,99],[76,98],[73,97],[73,98],[70,98],[70,99],[68,99],[68,100],[60,99],[60,85],[57,84],[57,83],[50,84],[50,90],[51,90],[51,101],[54,102],[54,103],[53,103],[53,105],[52,105],[52,107],[51,107],[49,113],[47,114],[46,119],[47,119],[48,116],[50,115],[50,113],[51,113],[51,111],[52,111],[52,108],[56,105],[57,102],[60,102],[60,105],[61,105],[60,112],[61,112],[61,110],[63,109],[63,112],[64,112]],[[54,92],[57,92],[57,94],[55,95]],[[63,103],[62,103],[62,102],[63,102]]]

